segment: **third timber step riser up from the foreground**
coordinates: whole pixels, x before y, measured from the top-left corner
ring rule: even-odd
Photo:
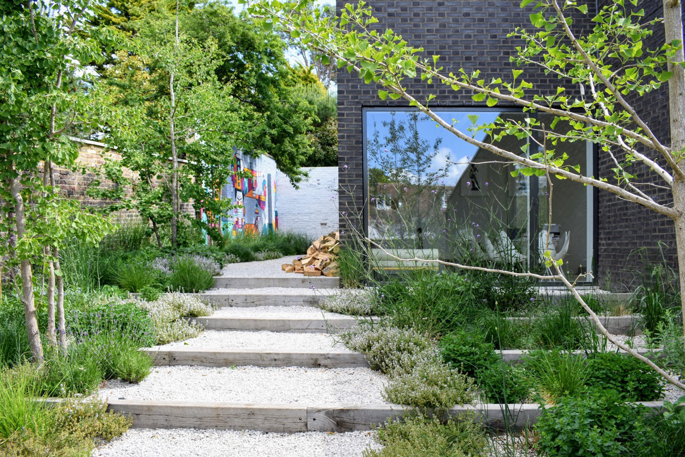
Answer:
[[[338,333],[357,325],[355,318],[238,318],[206,316],[192,318],[206,329],[240,331],[297,331]]]

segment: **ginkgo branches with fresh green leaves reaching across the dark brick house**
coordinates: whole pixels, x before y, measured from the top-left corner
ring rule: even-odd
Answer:
[[[309,46],[334,58],[338,67],[356,73],[367,84],[382,86],[381,99],[405,99],[410,106],[429,116],[436,124],[472,145],[497,154],[517,164],[515,173],[562,178],[610,192],[656,213],[667,216],[675,225],[680,283],[685,284],[685,58],[682,48],[683,28],[680,1],[663,3],[663,18],[645,20],[645,12],[636,0],[609,1],[592,12],[590,27],[577,34],[574,19],[590,14],[588,5],[575,0],[523,0],[521,7],[533,7],[532,29],[518,28],[510,36],[523,45],[516,47],[511,57],[514,69],[499,78],[486,80],[480,71],[445,69],[438,65],[439,56],[426,56],[422,48],[412,47],[392,30],[382,30],[373,17],[371,7],[360,1],[347,4],[335,19],[310,14],[310,0],[247,2],[247,10],[264,23],[279,24]],[[594,7],[593,7],[594,8]],[[664,40],[653,49],[652,39],[658,24],[664,27]],[[540,95],[532,82],[526,80],[525,68],[538,67],[557,75],[556,93]],[[469,93],[474,102],[484,106],[514,104],[525,113],[547,113],[553,116],[551,126],[536,121],[534,115],[525,121],[498,118],[483,125],[472,119],[472,126],[462,128],[450,119],[443,119],[429,102],[435,95],[416,95],[412,81],[446,86],[453,91]],[[662,84],[668,85],[670,137],[660,138],[635,106],[637,96],[648,96]],[[584,88],[584,96],[569,95],[568,88]],[[558,122],[569,123],[571,129],[556,132]],[[485,131],[485,138],[474,134]],[[536,148],[523,153],[506,150],[498,139],[504,134],[530,139]],[[570,163],[562,141],[596,143],[599,154],[611,163],[614,176],[587,176],[579,164]],[[667,202],[653,197],[654,180],[670,190]],[[621,349],[643,360],[672,384],[685,388],[682,382],[615,341],[601,325],[599,318],[583,301],[560,268],[547,255],[547,266],[556,274],[546,276],[563,281],[590,314],[597,327]],[[462,268],[474,268],[454,264]],[[514,273],[512,273],[514,274]],[[539,275],[528,274],[532,277]],[[544,276],[543,276],[544,277]],[[685,294],[682,294],[685,311]],[[684,329],[685,332],[685,329]]]

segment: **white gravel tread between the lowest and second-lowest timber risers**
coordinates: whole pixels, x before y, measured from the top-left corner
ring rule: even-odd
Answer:
[[[159,366],[140,384],[108,381],[98,395],[112,400],[370,404],[387,403],[385,384],[386,377],[370,368]]]

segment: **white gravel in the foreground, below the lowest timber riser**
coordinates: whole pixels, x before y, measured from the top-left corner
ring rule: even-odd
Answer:
[[[360,457],[378,449],[372,432],[263,433],[234,430],[131,429],[92,457]]]

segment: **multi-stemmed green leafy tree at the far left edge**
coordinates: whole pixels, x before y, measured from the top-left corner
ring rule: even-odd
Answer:
[[[64,347],[59,248],[70,237],[92,243],[112,230],[100,215],[60,200],[50,178],[55,166],[71,167],[78,156],[68,134],[103,119],[117,128],[124,121],[108,110],[86,71],[101,58],[101,46],[112,49],[117,41],[108,30],[84,25],[90,6],[88,0],[0,5],[0,233],[8,235],[0,243],[0,257],[9,259],[10,270],[18,268],[12,277],[34,360],[42,360],[43,349],[32,263],[45,259],[50,265],[47,336],[53,344],[59,338]]]

